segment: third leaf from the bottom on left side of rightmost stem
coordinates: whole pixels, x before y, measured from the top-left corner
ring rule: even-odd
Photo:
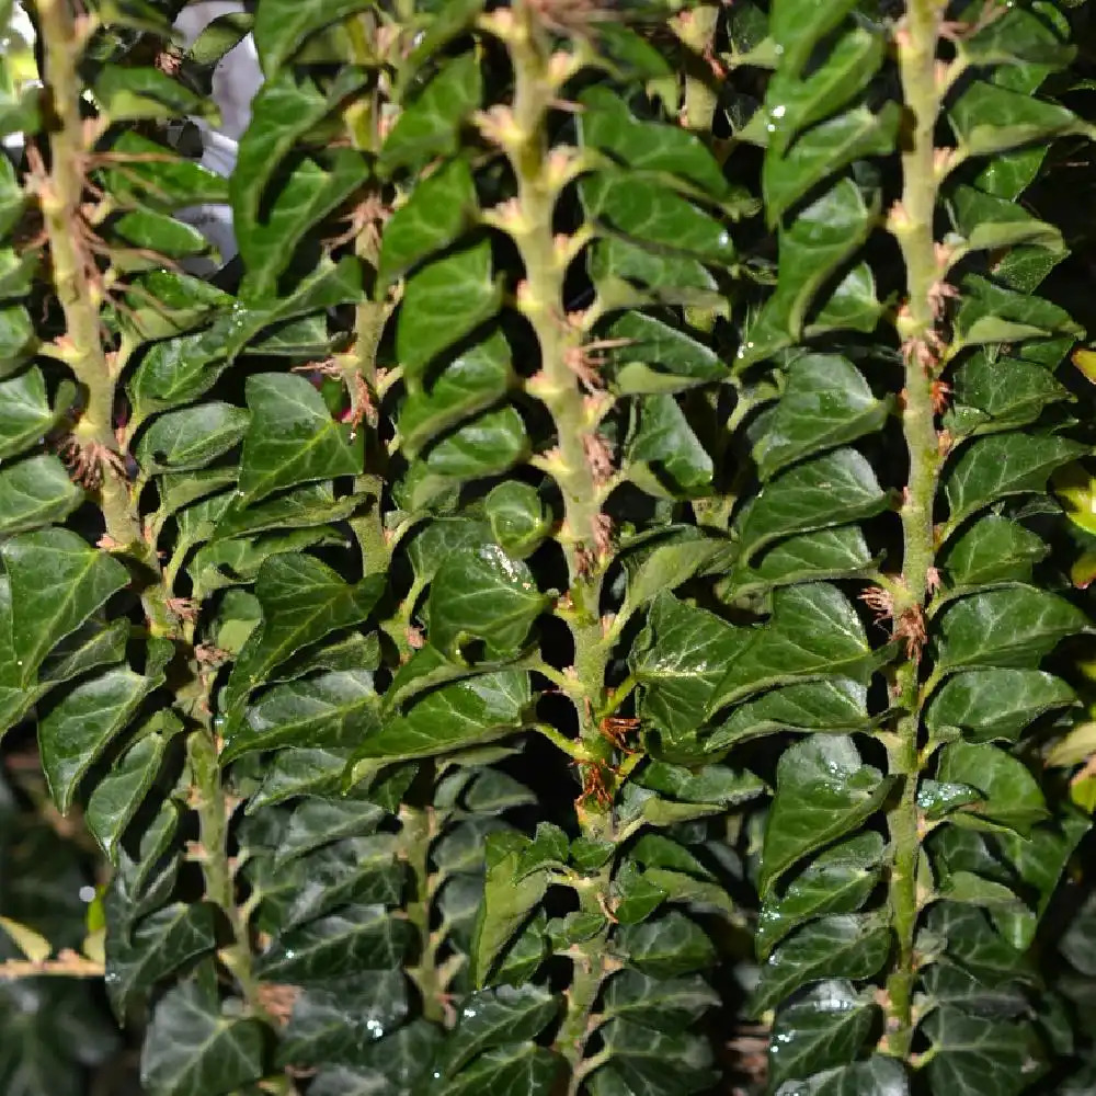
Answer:
[[[887,961],[891,933],[877,914],[840,914],[804,925],[761,969],[750,1012],[761,1016],[801,985],[871,978]]]

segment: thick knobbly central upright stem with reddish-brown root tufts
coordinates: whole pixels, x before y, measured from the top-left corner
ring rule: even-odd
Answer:
[[[560,543],[570,576],[570,606],[564,617],[574,641],[574,687],[568,694],[579,716],[589,772],[597,778],[608,769],[612,746],[598,730],[598,712],[605,699],[605,672],[609,642],[602,630],[600,597],[608,564],[601,507],[604,481],[594,471],[591,447],[596,446],[597,425],[607,397],[584,395],[580,387],[583,328],[569,322],[564,307],[567,269],[576,241],[553,233],[553,216],[560,192],[578,171],[574,149],[551,148],[548,115],[567,72],[567,56],[551,55],[551,46],[536,12],[515,2],[504,35],[514,66],[512,125],[502,141],[514,171],[516,201],[504,227],[517,247],[525,279],[517,307],[540,347],[540,370],[527,391],[539,399],[556,427],[556,449],[541,466],[550,472],[563,500]],[[583,835],[592,841],[612,841],[612,797],[615,777],[605,789],[608,802],[584,792],[578,807]],[[612,861],[596,876],[578,880],[581,909],[596,916],[607,910]],[[606,921],[597,936],[571,949],[572,981],[567,992],[567,1015],[557,1046],[570,1068],[568,1096],[578,1093],[584,1072],[590,1017],[602,984],[609,973],[607,958],[612,925]]]

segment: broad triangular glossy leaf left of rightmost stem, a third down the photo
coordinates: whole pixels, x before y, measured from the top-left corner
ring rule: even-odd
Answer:
[[[803,457],[879,430],[888,404],[836,354],[804,354],[788,370],[784,395],[754,445],[763,480]]]

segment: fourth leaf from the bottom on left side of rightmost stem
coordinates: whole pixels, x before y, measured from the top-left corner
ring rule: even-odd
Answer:
[[[855,913],[879,882],[883,840],[875,831],[857,834],[814,857],[779,897],[762,904],[754,938],[757,955],[767,959],[794,928],[812,917]]]

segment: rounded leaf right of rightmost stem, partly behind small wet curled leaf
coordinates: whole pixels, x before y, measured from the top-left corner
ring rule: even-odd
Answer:
[[[936,778],[966,784],[983,797],[969,811],[949,815],[958,825],[978,829],[986,819],[1026,836],[1048,813],[1039,785],[1023,762],[989,743],[948,743],[940,751]]]

